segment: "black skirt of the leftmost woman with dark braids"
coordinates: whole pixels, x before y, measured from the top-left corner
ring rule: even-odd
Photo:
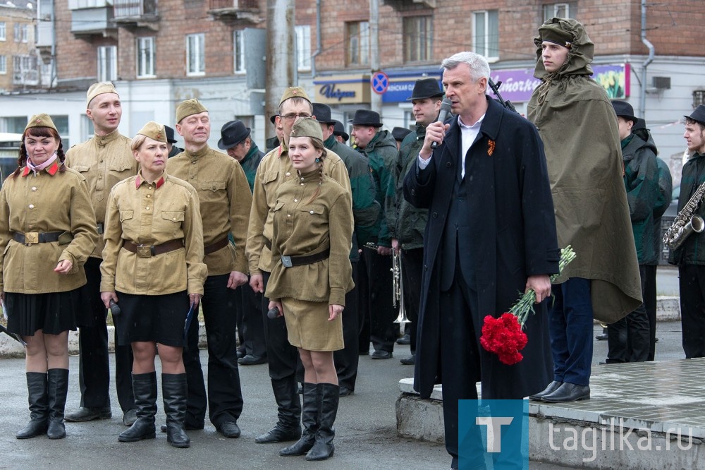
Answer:
[[[37,330],[47,335],[76,330],[76,315],[82,308],[80,287],[47,294],[5,293],[7,329],[20,336],[34,336]]]

